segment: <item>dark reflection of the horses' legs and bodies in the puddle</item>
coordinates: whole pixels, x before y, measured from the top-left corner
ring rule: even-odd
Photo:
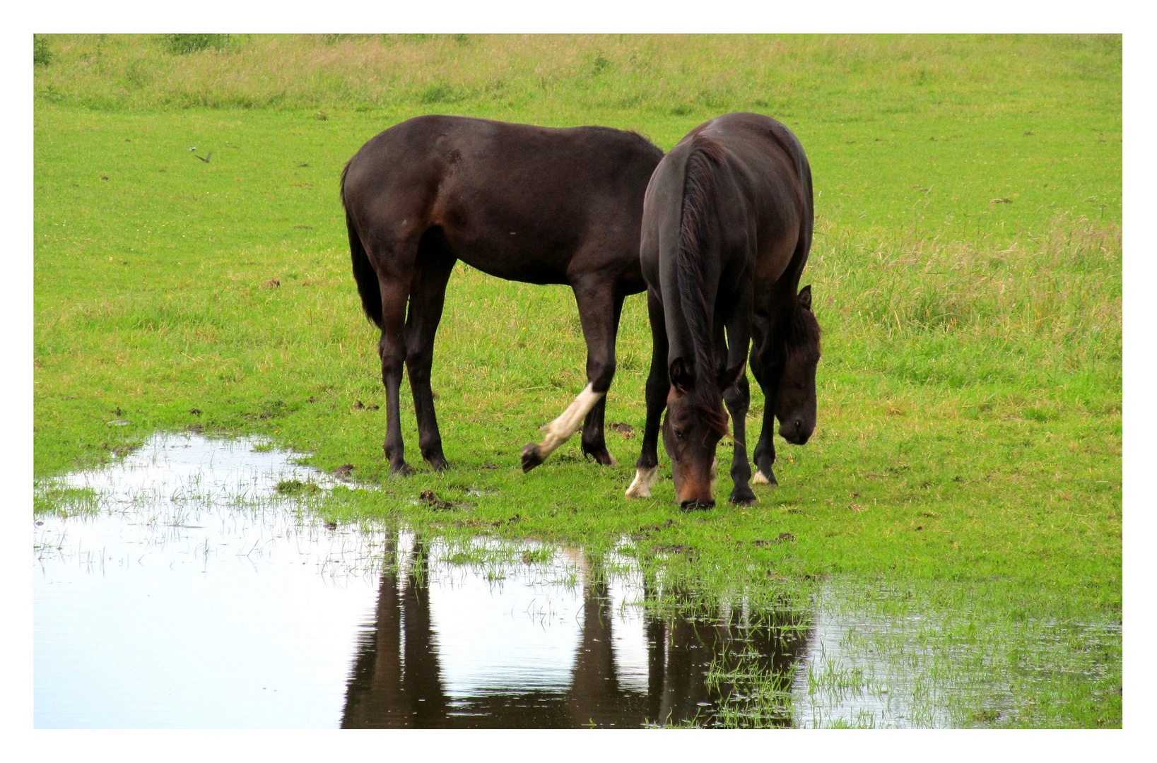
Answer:
[[[376,627],[354,662],[344,728],[712,725],[721,701],[739,690],[707,684],[713,661],[724,674],[742,662],[749,673],[786,676],[805,644],[805,635],[791,628],[744,625],[738,610],[713,618],[648,616],[647,690],[621,686],[606,576],[595,566],[584,575],[583,624],[569,687],[451,699],[443,690],[427,571],[428,551],[417,540],[405,585],[398,585],[391,565],[382,575]],[[776,723],[790,725],[790,719],[784,713]]]

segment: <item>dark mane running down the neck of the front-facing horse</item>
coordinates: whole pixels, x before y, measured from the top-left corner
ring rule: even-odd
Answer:
[[[722,161],[722,146],[703,135],[692,139],[691,153],[684,165],[676,271],[679,274],[679,302],[694,351],[695,406],[708,416],[708,423],[714,429],[727,434],[727,412],[718,385],[714,383],[715,340],[703,276],[705,257],[714,253],[712,236],[716,227],[713,224],[712,201],[716,194],[715,168]]]

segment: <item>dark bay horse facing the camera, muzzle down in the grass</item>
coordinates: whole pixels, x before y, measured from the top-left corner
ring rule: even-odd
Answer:
[[[659,162],[643,202],[640,259],[653,356],[628,497],[650,495],[666,408],[663,444],[680,506],[715,505],[715,449],[728,412],[735,421],[731,502],[756,501],[745,442],[749,345],[765,397],[754,482],[775,484],[773,416],[789,443],[808,442],[816,428],[819,324],[811,287],[796,289],[812,224],[808,158],[791,131],[769,117],[706,121]]]

